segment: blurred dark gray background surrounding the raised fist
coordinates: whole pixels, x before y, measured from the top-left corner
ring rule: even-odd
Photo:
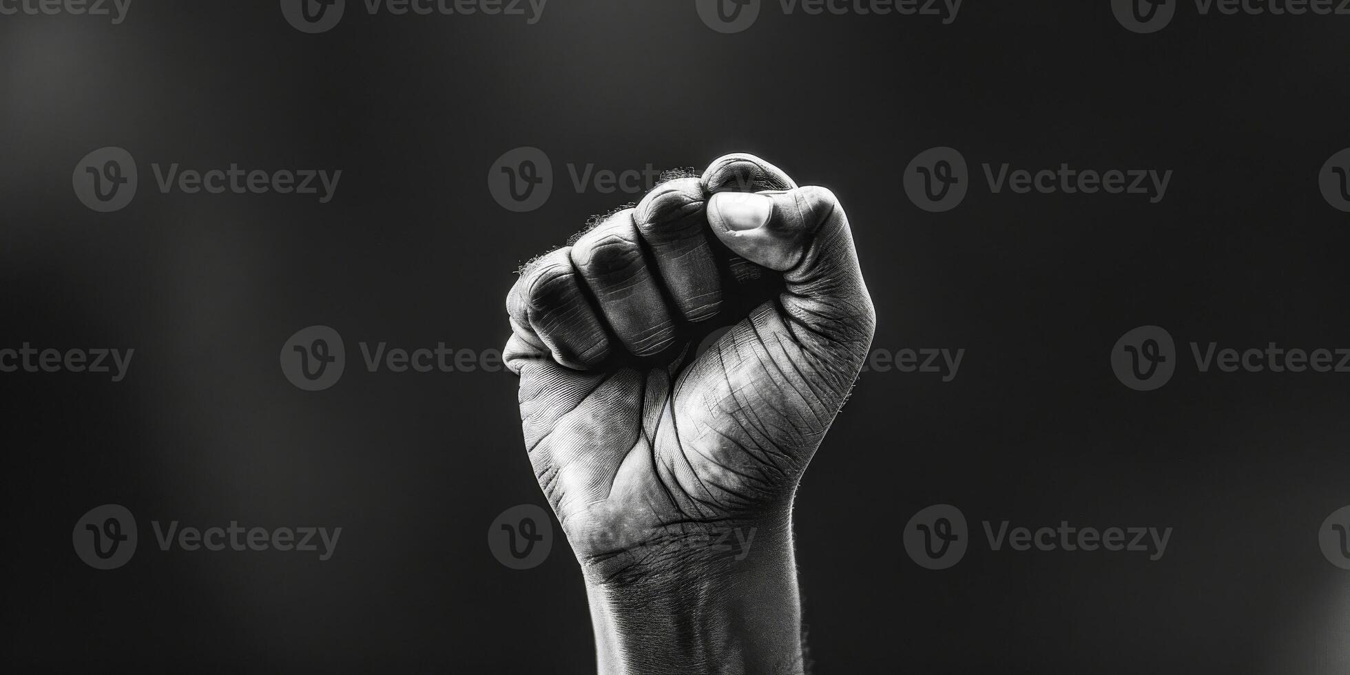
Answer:
[[[348,4],[358,5],[355,0]],[[359,7],[359,5],[358,5]],[[1350,502],[1347,378],[1181,367],[1112,375],[1127,329],[1179,347],[1350,347],[1350,220],[1316,173],[1350,146],[1350,18],[1196,16],[1135,35],[1108,3],[967,3],[956,23],[783,16],[721,35],[693,3],[549,3],[543,20],[366,16],[305,35],[275,3],[136,1],[122,26],[0,18],[4,347],[134,347],[124,382],[4,374],[9,660],[162,671],[589,672],[576,563],[487,551],[543,498],[509,374],[364,373],[359,340],[501,347],[524,259],[628,196],[564,163],[705,166],[748,150],[849,211],[876,346],[965,348],[954,382],[864,377],[806,475],[798,562],[817,672],[1331,674],[1350,572],[1316,529]],[[99,215],[72,193],[122,146],[142,185]],[[554,159],[539,211],[487,167]],[[1166,198],[910,204],[922,150],[1027,169],[1157,167]],[[151,162],[342,169],[336,200],[159,194]],[[332,389],[281,344],[347,342]],[[1181,347],[1185,350],[1185,347]],[[1183,354],[1184,355],[1184,354]],[[142,548],[70,548],[122,504]],[[930,504],[972,521],[1176,528],[1166,556],[973,545],[909,560]],[[332,560],[159,552],[150,520],[343,526]]]

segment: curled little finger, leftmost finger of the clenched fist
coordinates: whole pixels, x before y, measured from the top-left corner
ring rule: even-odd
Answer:
[[[575,370],[599,364],[610,354],[605,324],[582,290],[568,248],[559,248],[531,263],[506,296],[506,313],[520,343],[510,346],[547,351],[554,360]]]

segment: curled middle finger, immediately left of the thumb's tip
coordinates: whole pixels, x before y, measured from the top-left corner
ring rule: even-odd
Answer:
[[[686,321],[717,315],[722,304],[721,271],[707,239],[706,194],[698,178],[663,182],[637,204],[637,232],[675,310]]]

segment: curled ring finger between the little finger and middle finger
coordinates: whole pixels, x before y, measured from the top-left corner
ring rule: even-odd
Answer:
[[[675,320],[647,267],[633,212],[620,211],[582,235],[571,259],[620,343],[649,356],[675,342]]]

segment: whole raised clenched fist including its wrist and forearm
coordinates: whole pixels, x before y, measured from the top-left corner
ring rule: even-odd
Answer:
[[[834,194],[722,157],[526,266],[506,305],[599,672],[802,672],[792,497],[875,327]]]

